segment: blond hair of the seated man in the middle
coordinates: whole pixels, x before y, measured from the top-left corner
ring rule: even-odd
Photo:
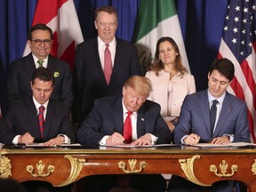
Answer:
[[[145,76],[131,76],[124,83],[124,88],[132,87],[136,92],[148,98],[149,93],[152,92],[152,83]]]

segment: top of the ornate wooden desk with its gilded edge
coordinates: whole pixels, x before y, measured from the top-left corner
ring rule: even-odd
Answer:
[[[44,151],[44,152],[43,152]],[[22,147],[17,145],[4,145],[0,149],[0,154],[256,154],[255,146],[244,147],[223,147],[223,148],[200,148],[186,145],[174,145],[165,147],[146,148],[116,148],[116,147],[85,147],[85,146],[65,146],[65,147]]]

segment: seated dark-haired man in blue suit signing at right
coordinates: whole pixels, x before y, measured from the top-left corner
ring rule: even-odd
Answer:
[[[230,60],[214,60],[208,73],[208,89],[188,95],[183,101],[179,121],[173,132],[175,143],[250,142],[246,103],[227,92],[234,74],[234,65]],[[213,100],[217,100],[217,113],[211,130],[210,108]],[[168,192],[187,192],[198,186],[173,175],[168,188]],[[232,192],[234,181],[213,183],[211,191]]]

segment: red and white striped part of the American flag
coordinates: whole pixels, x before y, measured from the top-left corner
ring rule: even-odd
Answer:
[[[218,58],[228,58],[235,65],[235,77],[228,92],[233,93],[247,103],[249,127],[252,140],[256,143],[256,42],[252,46],[252,54],[239,63],[230,51],[228,45],[221,38]]]

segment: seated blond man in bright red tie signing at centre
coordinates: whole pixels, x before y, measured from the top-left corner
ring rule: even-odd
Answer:
[[[95,100],[94,106],[77,132],[78,141],[86,146],[132,145],[147,146],[172,142],[172,132],[160,115],[160,106],[147,100],[152,91],[151,82],[144,76],[131,76],[121,95]],[[126,118],[131,113],[131,138],[125,135]],[[129,141],[130,140],[130,141]],[[93,178],[93,177],[92,177]],[[95,176],[84,179],[85,191],[105,192],[113,187],[113,176]],[[115,176],[114,176],[115,178]],[[140,191],[164,192],[166,182],[162,175],[131,175],[131,187]],[[99,181],[100,180],[100,181]],[[92,187],[92,188],[91,188]]]

